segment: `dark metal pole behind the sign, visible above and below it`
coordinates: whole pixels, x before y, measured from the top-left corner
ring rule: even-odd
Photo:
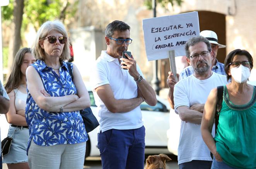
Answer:
[[[156,17],[156,6],[157,6],[157,2],[156,0],[152,0],[152,8],[153,8],[153,13],[154,13],[154,18]],[[157,70],[158,70],[158,60],[154,61],[154,70],[153,70],[153,79],[151,81],[152,87],[155,90],[155,93],[157,95],[159,95],[159,91],[160,91],[160,81],[158,79],[158,75],[157,75]]]

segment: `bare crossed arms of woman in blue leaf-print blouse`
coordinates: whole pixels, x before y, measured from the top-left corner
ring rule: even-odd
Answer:
[[[36,104],[43,110],[48,112],[60,112],[60,108],[63,108],[63,112],[72,112],[90,107],[89,93],[82,81],[79,70],[73,64],[73,83],[77,89],[77,95],[65,95],[61,97],[48,97],[44,92],[44,85],[40,75],[34,67],[29,66],[26,70],[27,77],[27,89],[29,90],[32,98]]]

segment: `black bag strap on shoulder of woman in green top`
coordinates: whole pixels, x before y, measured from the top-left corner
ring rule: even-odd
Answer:
[[[217,133],[218,118],[220,116],[220,110],[222,107],[223,91],[224,91],[224,86],[217,87],[217,103],[216,103],[216,111],[215,111],[215,134]]]

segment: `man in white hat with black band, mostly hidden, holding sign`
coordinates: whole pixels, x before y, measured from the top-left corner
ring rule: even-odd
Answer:
[[[224,64],[218,62],[218,60],[216,59],[218,49],[225,48],[226,46],[218,44],[217,34],[212,30],[203,30],[202,32],[200,32],[200,35],[207,38],[211,43],[212,52],[213,52],[213,60],[212,60],[212,66],[211,66],[212,71],[217,74],[226,75],[224,70]],[[188,58],[187,58],[187,61],[190,64],[190,60]],[[172,109],[174,109],[173,90],[174,90],[174,85],[177,83],[177,81],[174,79],[172,72],[168,72],[168,74],[169,74],[169,76],[167,77],[167,84],[169,86],[168,101]],[[182,80],[192,74],[194,74],[194,70],[190,65],[184,68],[180,74],[177,74],[177,78],[179,80]]]

